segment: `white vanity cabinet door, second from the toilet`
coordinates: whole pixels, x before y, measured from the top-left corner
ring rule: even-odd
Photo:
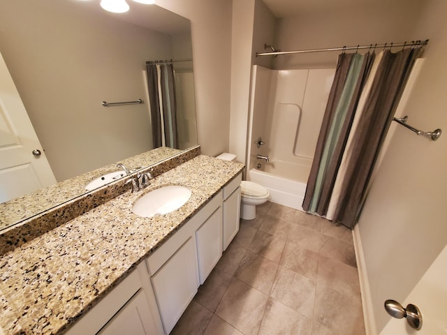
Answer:
[[[203,284],[222,255],[222,207],[198,228],[196,240],[199,278]]]

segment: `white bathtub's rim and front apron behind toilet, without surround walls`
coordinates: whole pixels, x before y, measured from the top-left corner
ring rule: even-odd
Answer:
[[[249,180],[264,186],[270,191],[270,201],[302,211],[302,200],[305,198],[306,183],[279,177],[272,173],[250,169]]]

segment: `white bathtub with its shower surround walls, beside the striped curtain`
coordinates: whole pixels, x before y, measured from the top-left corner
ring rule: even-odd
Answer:
[[[272,202],[302,210],[334,74],[335,68],[271,70],[254,66],[247,179],[268,188]],[[268,156],[270,161],[257,159],[257,155]],[[258,164],[261,169],[256,168]]]

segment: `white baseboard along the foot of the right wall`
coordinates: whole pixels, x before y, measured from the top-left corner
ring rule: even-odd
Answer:
[[[369,290],[369,281],[363,255],[362,241],[358,225],[354,226],[352,231],[354,248],[356,250],[356,262],[358,269],[358,280],[360,281],[360,292],[362,295],[363,318],[365,319],[366,335],[377,335],[376,322],[374,319],[374,310],[372,308],[371,290]]]

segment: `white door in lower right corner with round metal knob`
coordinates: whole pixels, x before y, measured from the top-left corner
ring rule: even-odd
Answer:
[[[447,246],[434,260],[402,306],[418,306],[422,314],[420,330],[409,327],[406,320],[391,318],[380,335],[445,335],[447,334]],[[390,297],[393,299],[393,297]]]

